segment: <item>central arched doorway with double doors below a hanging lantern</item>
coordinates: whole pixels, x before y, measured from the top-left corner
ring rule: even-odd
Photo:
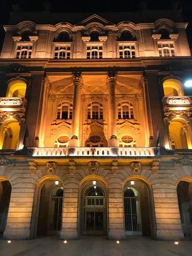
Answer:
[[[92,183],[92,184],[91,184]],[[82,235],[106,235],[107,202],[104,184],[89,181],[82,188]]]

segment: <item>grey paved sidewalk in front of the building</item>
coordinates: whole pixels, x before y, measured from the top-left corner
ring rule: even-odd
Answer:
[[[128,238],[126,241],[109,241],[103,237],[82,237],[64,241],[57,237],[34,240],[0,241],[1,256],[191,256],[192,241],[154,241],[150,238]]]

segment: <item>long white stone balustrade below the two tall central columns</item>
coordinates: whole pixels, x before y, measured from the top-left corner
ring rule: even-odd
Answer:
[[[157,148],[31,148],[33,157],[155,157]]]

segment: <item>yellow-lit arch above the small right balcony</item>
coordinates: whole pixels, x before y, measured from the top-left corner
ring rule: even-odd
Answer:
[[[165,78],[163,80],[164,96],[183,96],[183,84],[178,78]]]

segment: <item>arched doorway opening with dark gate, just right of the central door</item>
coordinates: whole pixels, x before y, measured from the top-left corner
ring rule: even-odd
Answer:
[[[137,179],[128,181],[123,193],[126,235],[151,236],[152,214],[147,184]]]

